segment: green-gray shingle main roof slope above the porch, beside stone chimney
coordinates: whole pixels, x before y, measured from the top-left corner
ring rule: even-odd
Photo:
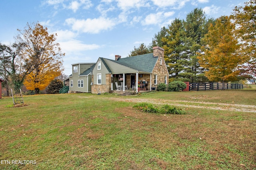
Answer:
[[[138,71],[152,72],[154,69],[154,66],[156,65],[157,60],[158,60],[158,57],[154,57],[153,53],[148,53],[144,55],[121,58],[121,59],[118,59],[118,61],[116,60],[111,60],[111,61],[114,61],[118,64],[122,64],[124,66],[128,66]]]

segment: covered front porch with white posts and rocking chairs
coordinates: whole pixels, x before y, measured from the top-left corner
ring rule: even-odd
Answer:
[[[111,90],[117,92],[134,90],[136,93],[138,91],[151,91],[151,76],[151,73],[138,71],[135,73],[112,74]],[[138,85],[140,85],[140,88],[138,88]]]

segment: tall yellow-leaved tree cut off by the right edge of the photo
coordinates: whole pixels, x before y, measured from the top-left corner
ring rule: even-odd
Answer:
[[[241,66],[242,75],[256,79],[256,0],[245,2],[244,7],[236,6],[231,16],[236,24],[236,35],[241,42],[240,55],[244,64]]]

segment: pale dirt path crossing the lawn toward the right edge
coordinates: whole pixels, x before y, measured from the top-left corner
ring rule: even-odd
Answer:
[[[242,111],[256,113],[255,105],[242,105],[242,104],[223,104],[213,102],[191,102],[186,100],[162,100],[162,99],[122,99],[122,98],[107,98],[109,100],[116,100],[122,102],[147,102],[152,104],[170,104],[179,107],[194,107],[202,109],[215,109],[215,110],[229,110],[229,111]],[[186,104],[180,104],[186,103]],[[203,106],[202,106],[203,105]],[[212,106],[215,105],[215,106]]]

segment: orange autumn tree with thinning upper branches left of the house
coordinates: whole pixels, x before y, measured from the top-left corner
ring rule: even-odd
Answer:
[[[22,50],[22,57],[26,68],[30,74],[26,76],[24,85],[28,90],[44,89],[62,71],[62,58],[65,55],[61,52],[59,44],[56,43],[56,34],[49,34],[47,27],[40,23],[27,23],[24,30],[19,30],[20,34],[16,40],[25,45]]]

